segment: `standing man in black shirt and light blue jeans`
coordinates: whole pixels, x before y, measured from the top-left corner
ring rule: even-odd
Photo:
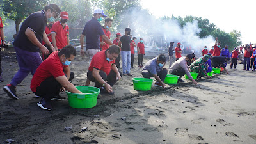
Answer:
[[[121,57],[122,57],[122,68],[123,68],[123,75],[124,76],[132,76],[130,74],[131,70],[131,49],[130,49],[130,44],[131,44],[131,38],[129,35],[131,34],[131,29],[130,28],[125,28],[125,35],[123,35],[119,42],[118,46],[121,47]]]

